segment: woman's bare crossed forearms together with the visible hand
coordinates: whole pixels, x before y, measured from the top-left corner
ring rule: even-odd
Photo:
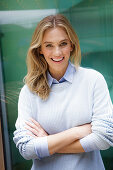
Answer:
[[[26,122],[26,125],[26,129],[31,132],[29,135],[34,138],[47,136],[50,155],[54,153],[84,152],[80,139],[91,133],[91,124],[73,127],[54,135],[48,135],[34,119],[31,119],[31,122]]]

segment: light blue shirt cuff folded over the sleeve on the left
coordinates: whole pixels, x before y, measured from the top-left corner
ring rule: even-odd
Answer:
[[[34,140],[35,152],[39,159],[43,157],[50,156],[48,150],[47,136],[38,137]]]

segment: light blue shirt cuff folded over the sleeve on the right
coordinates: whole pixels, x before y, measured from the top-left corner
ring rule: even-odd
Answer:
[[[93,150],[99,150],[97,145],[93,140],[93,134],[90,134],[82,139],[80,139],[80,144],[82,145],[85,152],[91,152]]]

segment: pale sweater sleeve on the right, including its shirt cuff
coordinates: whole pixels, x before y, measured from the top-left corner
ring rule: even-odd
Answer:
[[[92,133],[80,140],[85,152],[113,146],[113,106],[107,83],[99,73],[93,90]]]

